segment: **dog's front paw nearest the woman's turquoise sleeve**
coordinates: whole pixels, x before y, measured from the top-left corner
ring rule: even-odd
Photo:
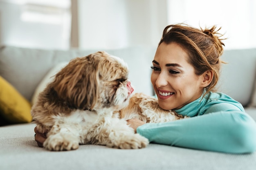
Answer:
[[[107,146],[120,149],[139,149],[145,148],[148,143],[148,139],[139,134],[126,134]]]

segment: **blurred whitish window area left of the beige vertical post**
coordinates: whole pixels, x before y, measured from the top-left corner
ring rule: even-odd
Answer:
[[[0,15],[2,44],[70,48],[69,0],[0,0]]]

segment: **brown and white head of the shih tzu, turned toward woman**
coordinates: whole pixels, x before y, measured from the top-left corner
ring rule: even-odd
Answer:
[[[56,74],[52,86],[62,101],[80,110],[119,110],[133,91],[126,63],[106,52],[71,60]]]

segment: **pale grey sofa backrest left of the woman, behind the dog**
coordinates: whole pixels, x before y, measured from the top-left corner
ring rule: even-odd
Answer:
[[[36,87],[52,67],[60,62],[69,62],[75,57],[83,57],[97,51],[102,50],[60,51],[2,46],[0,47],[0,76],[31,101]],[[140,46],[106,50],[106,52],[123,58],[127,62],[130,68],[130,82],[135,92],[153,94],[150,66],[155,55],[155,48]]]

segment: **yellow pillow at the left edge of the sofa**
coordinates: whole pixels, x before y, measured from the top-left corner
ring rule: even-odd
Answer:
[[[32,121],[31,104],[9,82],[0,76],[0,115],[9,123]]]

